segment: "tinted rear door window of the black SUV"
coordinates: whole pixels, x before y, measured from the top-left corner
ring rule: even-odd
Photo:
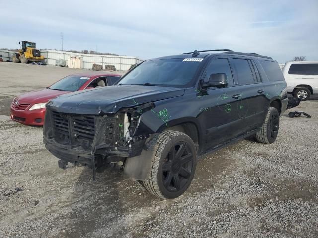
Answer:
[[[254,83],[252,70],[249,66],[248,60],[245,59],[232,59],[235,71],[238,77],[238,84],[251,84]]]

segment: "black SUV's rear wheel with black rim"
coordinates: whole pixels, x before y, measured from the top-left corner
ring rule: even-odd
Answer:
[[[279,113],[276,108],[269,107],[263,126],[256,133],[256,140],[260,143],[271,144],[276,140],[278,130]]]

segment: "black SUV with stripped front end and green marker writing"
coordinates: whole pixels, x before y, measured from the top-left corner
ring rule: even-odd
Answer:
[[[205,52],[223,51],[211,54]],[[146,60],[115,86],[46,105],[45,147],[95,171],[107,165],[161,198],[189,187],[199,156],[255,135],[270,144],[287,105],[277,61],[228,49]]]

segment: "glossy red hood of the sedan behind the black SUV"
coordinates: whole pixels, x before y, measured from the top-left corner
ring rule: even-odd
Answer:
[[[41,90],[36,90],[36,91],[22,94],[18,96],[16,100],[19,100],[25,103],[46,103],[48,100],[53,99],[65,93],[69,93],[69,92],[44,88]]]

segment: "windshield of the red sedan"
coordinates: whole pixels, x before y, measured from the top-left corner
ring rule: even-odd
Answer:
[[[87,82],[89,77],[74,76],[70,75],[62,78],[60,81],[56,82],[49,89],[60,90],[60,91],[77,91],[84,83]]]

